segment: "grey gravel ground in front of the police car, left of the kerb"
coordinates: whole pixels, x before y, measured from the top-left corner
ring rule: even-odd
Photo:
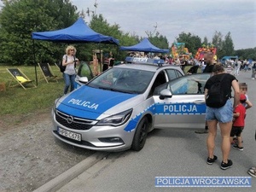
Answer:
[[[32,191],[94,151],[75,148],[51,134],[47,113],[0,117],[0,191]]]

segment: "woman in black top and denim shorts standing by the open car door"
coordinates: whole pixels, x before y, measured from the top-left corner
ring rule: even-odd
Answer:
[[[208,158],[207,164],[212,165],[212,163],[218,159],[216,155],[214,155],[215,148],[215,138],[217,136],[217,125],[220,127],[222,143],[222,162],[220,168],[226,170],[233,165],[232,160],[229,159],[230,155],[230,131],[232,128],[232,119],[233,119],[233,108],[239,102],[240,91],[239,84],[235,76],[230,73],[224,73],[224,67],[221,65],[215,65],[212,69],[214,75],[207,80],[205,85],[205,98],[206,102],[209,98],[208,91],[211,89],[213,84],[221,80],[221,91],[223,91],[224,96],[227,96],[227,100],[223,107],[220,108],[212,108],[207,106],[206,111],[206,120],[208,125],[208,136],[207,136],[207,151]],[[231,101],[231,88],[234,90],[234,102],[232,108]]]

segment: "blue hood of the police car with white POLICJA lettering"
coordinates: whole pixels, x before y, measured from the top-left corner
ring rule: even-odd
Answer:
[[[111,108],[122,102],[133,100],[136,94],[127,94],[112,90],[96,89],[89,86],[81,86],[67,96],[61,97],[56,108],[63,113],[87,119],[97,119],[102,113],[111,115]],[[131,105],[132,102],[130,102]],[[119,108],[121,110],[121,108]],[[119,110],[114,110],[119,113]],[[107,113],[108,111],[108,113]]]

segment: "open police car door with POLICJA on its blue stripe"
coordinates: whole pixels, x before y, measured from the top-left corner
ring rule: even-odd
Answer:
[[[210,76],[210,73],[186,75],[157,87],[154,90],[154,127],[203,128],[206,114],[203,89]],[[160,96],[162,90],[169,91],[169,96]]]

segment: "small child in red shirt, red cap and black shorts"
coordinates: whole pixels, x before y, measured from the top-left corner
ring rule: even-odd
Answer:
[[[242,143],[241,143],[241,132],[245,125],[245,115],[246,115],[246,108],[242,105],[242,103],[246,102],[247,97],[244,94],[240,95],[240,102],[235,108],[233,117],[234,122],[232,125],[232,130],[230,132],[230,142],[233,140],[233,137],[236,136],[237,143],[233,145],[233,148],[236,148],[240,151],[243,150]]]

